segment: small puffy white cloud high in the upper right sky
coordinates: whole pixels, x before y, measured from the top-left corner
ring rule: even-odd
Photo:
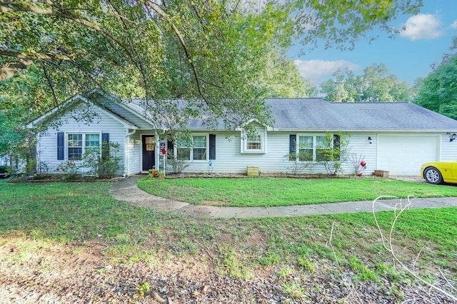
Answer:
[[[411,16],[403,26],[400,36],[410,40],[436,39],[444,34],[440,19],[432,14]]]

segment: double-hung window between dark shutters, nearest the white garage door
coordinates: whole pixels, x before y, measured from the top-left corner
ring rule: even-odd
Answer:
[[[332,142],[326,136],[306,135],[298,136],[298,160],[300,161],[323,161],[325,151],[331,149]]]

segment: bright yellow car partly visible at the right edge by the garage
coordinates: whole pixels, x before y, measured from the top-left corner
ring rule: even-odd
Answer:
[[[421,177],[427,183],[457,183],[457,161],[433,161],[421,166]]]

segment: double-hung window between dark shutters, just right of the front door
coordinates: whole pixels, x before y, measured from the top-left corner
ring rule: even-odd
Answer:
[[[192,136],[191,140],[180,139],[176,143],[176,157],[179,160],[206,161],[208,136]]]

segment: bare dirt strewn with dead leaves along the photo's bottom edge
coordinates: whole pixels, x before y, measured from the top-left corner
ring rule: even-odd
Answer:
[[[254,239],[250,240],[254,241]],[[0,239],[1,303],[452,303],[433,290],[405,284],[351,283],[351,273],[329,271],[279,277],[273,266],[254,268],[253,277],[235,279],[220,270],[217,252],[174,256],[150,254],[141,260],[113,259],[106,245],[57,245],[21,238]],[[146,249],[146,248],[144,248]],[[154,248],[149,248],[154,249]],[[154,252],[154,250],[151,250]],[[287,285],[299,286],[287,291]],[[147,288],[150,286],[150,288]]]

